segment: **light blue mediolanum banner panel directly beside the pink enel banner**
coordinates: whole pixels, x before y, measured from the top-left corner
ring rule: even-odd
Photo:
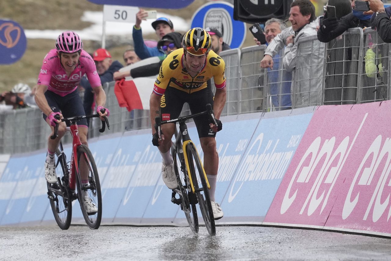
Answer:
[[[261,119],[222,201],[224,221],[263,221],[311,118],[312,113]]]

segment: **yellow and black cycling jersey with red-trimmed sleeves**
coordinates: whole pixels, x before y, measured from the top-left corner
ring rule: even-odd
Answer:
[[[225,87],[224,60],[212,50],[207,54],[206,63],[195,77],[187,72],[184,63],[183,48],[174,50],[167,55],[160,66],[153,91],[158,95],[163,95],[168,87],[172,87],[190,94],[206,88],[206,81],[211,78],[213,78],[217,89]]]

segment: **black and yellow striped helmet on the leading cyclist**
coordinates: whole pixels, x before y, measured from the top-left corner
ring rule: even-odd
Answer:
[[[212,49],[212,38],[206,30],[195,27],[183,36],[183,48],[192,55],[207,54]]]

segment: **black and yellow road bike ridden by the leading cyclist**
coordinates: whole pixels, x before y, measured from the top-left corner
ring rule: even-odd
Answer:
[[[158,132],[158,137],[160,139],[162,135],[162,124],[179,123],[179,132],[178,129],[176,129],[175,143],[172,143],[171,146],[171,155],[174,159],[174,172],[178,181],[178,187],[172,189],[171,202],[179,205],[181,210],[185,212],[187,222],[194,233],[198,233],[199,231],[196,208],[196,204],[198,204],[206,229],[211,236],[214,236],[216,234],[216,227],[208,191],[210,185],[197,148],[190,139],[185,123],[186,120],[203,114],[208,114],[210,121],[217,125],[210,104],[206,105],[206,111],[200,113],[165,121],[161,121],[160,117],[156,117],[155,122],[156,131]],[[179,195],[179,198],[176,198],[176,194]]]

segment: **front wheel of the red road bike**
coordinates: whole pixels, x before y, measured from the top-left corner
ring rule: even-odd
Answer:
[[[86,221],[90,229],[98,229],[100,221],[102,220],[102,194],[100,191],[100,182],[97,166],[92,156],[90,149],[86,145],[80,145],[77,147],[77,166],[79,170],[76,171],[76,186],[77,186],[77,198],[81,212],[83,213],[84,220]],[[82,187],[81,172],[83,172],[83,166],[86,166],[85,170],[88,170],[88,184]],[[88,166],[88,168],[87,168]],[[82,194],[87,193],[93,204],[97,207],[97,212],[87,213],[84,205],[84,201],[81,200]]]

